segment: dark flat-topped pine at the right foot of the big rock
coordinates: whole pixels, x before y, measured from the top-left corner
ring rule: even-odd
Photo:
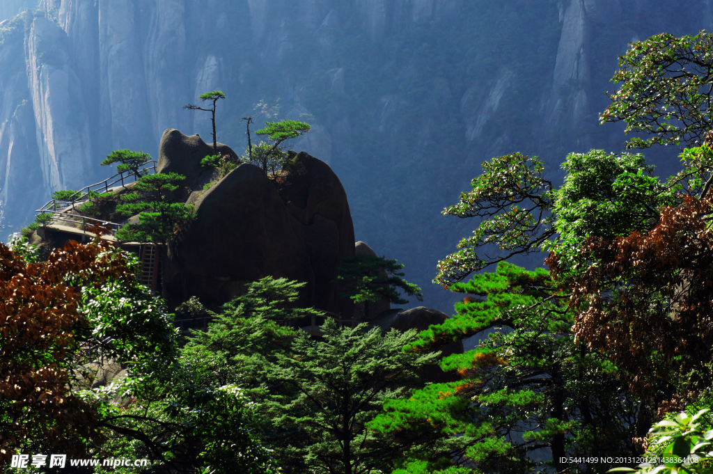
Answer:
[[[347,285],[347,291],[341,294],[342,297],[364,303],[364,316],[369,319],[369,302],[388,299],[394,304],[408,303],[408,299],[399,295],[399,289],[424,301],[421,289],[401,278],[404,276],[404,272],[399,272],[402,268],[403,264],[387,260],[386,257],[356,255],[342,259],[335,282]]]

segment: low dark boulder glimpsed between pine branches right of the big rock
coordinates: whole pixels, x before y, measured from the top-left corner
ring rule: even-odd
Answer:
[[[373,326],[378,326],[381,331],[388,332],[391,329],[399,331],[408,331],[416,329],[416,331],[424,331],[429,329],[431,324],[443,324],[448,319],[448,315],[438,309],[426,308],[418,306],[416,308],[407,309],[391,309],[384,311],[376,319],[370,321]],[[463,341],[453,342],[441,347],[441,358],[450,356],[451,354],[463,354]],[[433,382],[451,382],[461,379],[457,373],[446,373],[437,365],[426,366],[423,373],[424,380]]]

